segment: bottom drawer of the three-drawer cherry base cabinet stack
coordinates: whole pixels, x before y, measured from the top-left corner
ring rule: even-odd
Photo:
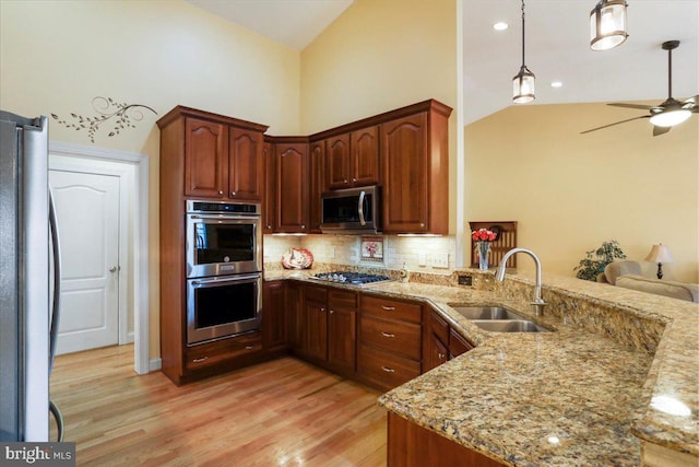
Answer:
[[[372,347],[359,346],[357,373],[367,382],[390,389],[419,376],[419,362]]]

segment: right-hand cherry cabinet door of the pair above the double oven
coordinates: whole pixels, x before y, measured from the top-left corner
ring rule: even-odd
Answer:
[[[258,202],[262,200],[263,144],[261,132],[230,127],[229,198]]]

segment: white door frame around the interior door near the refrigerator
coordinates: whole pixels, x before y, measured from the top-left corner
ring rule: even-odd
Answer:
[[[149,156],[134,152],[119,151],[112,149],[85,147],[73,143],[49,141],[49,153],[68,157],[92,159],[109,161],[118,164],[126,164],[123,172],[133,172],[133,370],[138,374],[145,374],[151,370],[156,370],[157,362],[151,369],[149,355]],[[84,172],[85,166],[75,164],[51,164],[49,157],[49,168],[71,170]],[[122,198],[123,199],[123,198]],[[122,224],[122,227],[126,226]],[[126,253],[126,252],[125,252]],[[121,253],[120,253],[120,260]],[[126,262],[125,262],[126,264]],[[120,279],[121,281],[121,279]],[[123,287],[122,287],[123,285]],[[121,295],[121,294],[125,295]],[[121,299],[126,296],[126,284],[120,282],[120,305]],[[123,301],[126,304],[126,300]],[[126,319],[119,323],[119,340],[121,341],[122,327],[126,327]]]

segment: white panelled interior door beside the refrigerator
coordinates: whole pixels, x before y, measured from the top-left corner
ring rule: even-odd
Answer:
[[[119,177],[49,171],[61,247],[57,354],[119,342]]]

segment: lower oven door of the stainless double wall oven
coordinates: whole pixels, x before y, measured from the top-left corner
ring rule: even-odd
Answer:
[[[187,281],[187,345],[260,329],[262,277],[256,275]]]

